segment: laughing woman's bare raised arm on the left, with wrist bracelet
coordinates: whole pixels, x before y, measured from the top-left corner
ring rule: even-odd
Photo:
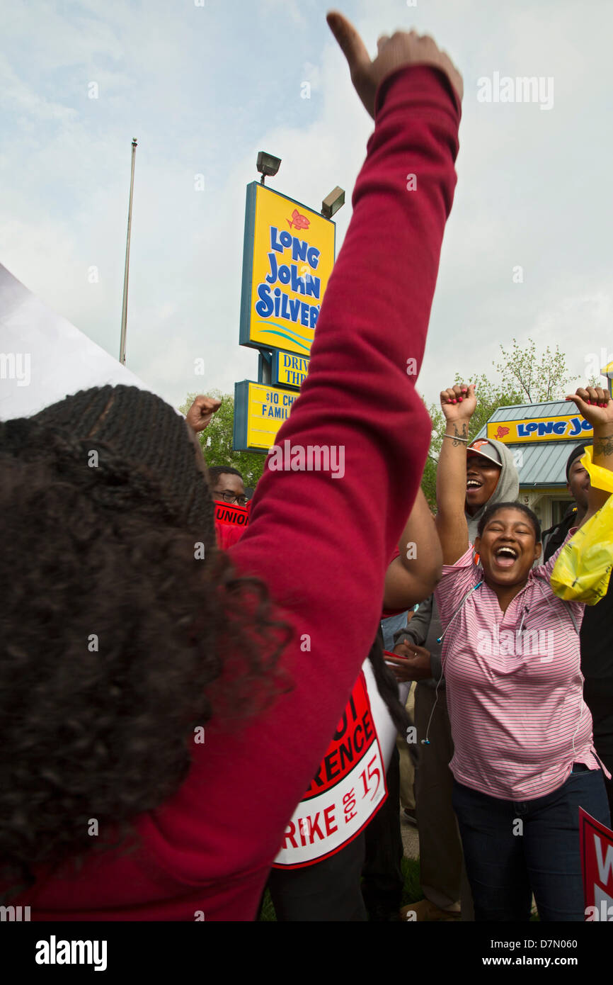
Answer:
[[[468,548],[466,500],[466,445],[468,425],[476,408],[474,385],[452,386],[441,391],[445,436],[436,471],[436,528],[443,549],[443,563],[455,564]]]

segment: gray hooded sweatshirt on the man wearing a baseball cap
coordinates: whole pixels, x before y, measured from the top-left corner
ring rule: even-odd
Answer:
[[[520,477],[513,461],[513,453],[502,441],[495,441],[494,438],[488,438],[488,441],[495,444],[500,451],[503,464],[498,485],[487,502],[479,506],[474,516],[465,514],[468,524],[468,540],[471,544],[474,544],[479,520],[486,508],[496,502],[515,502],[520,494]],[[400,629],[394,637],[395,645],[398,645],[402,640],[406,640],[408,643],[414,643],[416,646],[425,646],[427,650],[430,650],[430,666],[433,677],[419,682],[427,688],[436,688],[439,681],[441,681],[440,687],[445,687],[445,678],[442,677],[443,667],[441,664],[442,644],[437,642],[442,632],[443,625],[441,624],[439,611],[434,600],[434,595],[431,595],[429,599],[421,603],[410,623],[403,629]]]

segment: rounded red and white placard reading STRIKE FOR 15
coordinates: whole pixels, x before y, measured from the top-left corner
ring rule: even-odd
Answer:
[[[276,869],[299,869],[355,838],[387,796],[384,756],[360,672],[304,799],[285,830]]]

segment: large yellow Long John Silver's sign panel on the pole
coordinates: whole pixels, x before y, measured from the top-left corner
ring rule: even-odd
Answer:
[[[332,220],[258,181],[247,185],[241,346],[309,355],[335,240]]]

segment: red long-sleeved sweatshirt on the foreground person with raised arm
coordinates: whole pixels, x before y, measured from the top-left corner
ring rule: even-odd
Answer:
[[[423,356],[459,118],[438,70],[404,68],[380,88],[309,375],[276,439],[342,449],[343,475],[265,471],[231,550],[294,627],[283,656],[292,689],[247,726],[214,717],[187,780],[140,819],[142,850],[92,857],[78,880],[39,883],[32,918],[255,916],[285,824],[374,639],[426,458],[430,423],[406,369]]]

